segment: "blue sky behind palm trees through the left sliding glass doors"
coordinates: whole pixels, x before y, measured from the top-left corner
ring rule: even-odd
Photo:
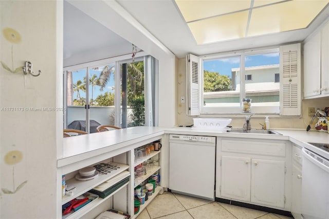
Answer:
[[[99,77],[99,75],[101,74],[102,70],[104,69],[104,66],[102,67],[98,67],[98,70],[96,69],[92,69],[89,68],[89,77],[93,77],[93,75],[97,75],[97,77]],[[82,69],[82,70],[77,70],[77,71],[72,71],[72,77],[73,77],[73,83],[77,83],[78,80],[81,80],[83,82],[83,78],[86,76],[86,69]],[[109,81],[107,81],[107,85],[104,87],[103,91],[101,92],[99,90],[99,86],[94,87],[94,99],[96,99],[96,97],[100,94],[104,94],[105,92],[109,92],[109,93],[114,93],[114,90],[112,89],[112,87],[114,87],[114,74],[111,74],[111,77],[109,78]],[[86,94],[85,92],[83,92],[82,90],[80,91],[80,96],[85,98]],[[77,98],[77,92],[74,92],[74,99]],[[92,86],[89,86],[89,99],[92,98]]]

